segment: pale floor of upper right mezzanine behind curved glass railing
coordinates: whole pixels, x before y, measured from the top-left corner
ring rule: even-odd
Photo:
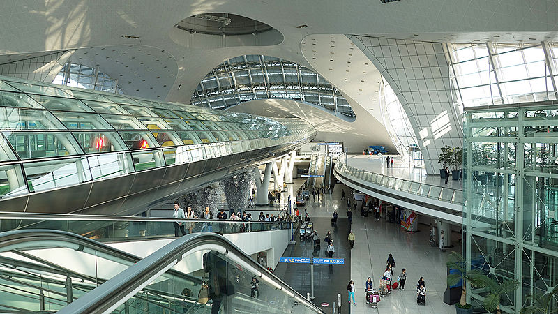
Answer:
[[[391,156],[390,156],[391,157]],[[448,184],[444,184],[444,179],[440,179],[439,175],[427,175],[424,167],[408,167],[407,163],[403,163],[399,156],[393,156],[395,167],[386,167],[385,156],[380,159],[378,156],[370,155],[351,155],[347,156],[347,163],[350,166],[359,169],[384,174],[389,177],[406,179],[415,182],[430,184],[433,186],[442,186],[446,188],[455,188],[462,190],[463,180],[453,181],[451,178]]]

